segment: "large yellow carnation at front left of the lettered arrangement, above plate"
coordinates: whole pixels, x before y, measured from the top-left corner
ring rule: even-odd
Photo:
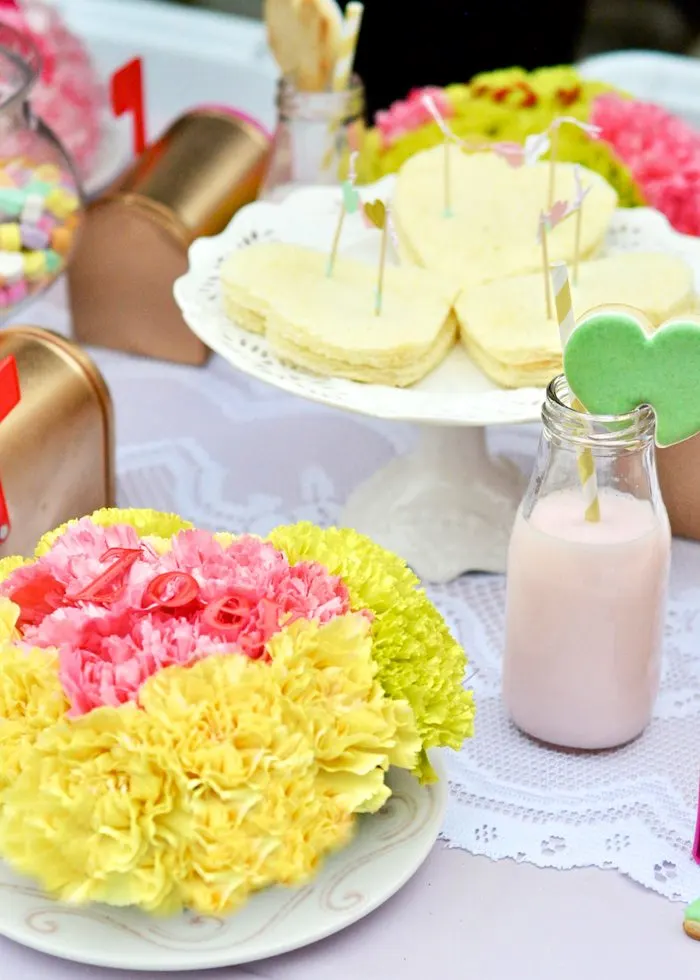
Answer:
[[[186,779],[133,705],[46,728],[3,798],[0,851],[57,898],[180,908]]]

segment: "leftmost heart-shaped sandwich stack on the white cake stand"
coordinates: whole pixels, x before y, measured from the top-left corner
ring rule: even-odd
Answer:
[[[223,265],[224,309],[241,327],[265,333],[281,359],[316,374],[403,387],[453,346],[454,292],[421,269],[387,266],[381,315],[377,271],[283,242],[234,252]]]

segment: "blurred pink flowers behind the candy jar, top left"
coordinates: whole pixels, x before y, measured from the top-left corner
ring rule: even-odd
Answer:
[[[83,43],[60,14],[41,0],[21,0],[19,9],[0,5],[0,21],[29,33],[44,65],[31,102],[58,136],[83,176],[90,173],[102,139],[107,90]]]

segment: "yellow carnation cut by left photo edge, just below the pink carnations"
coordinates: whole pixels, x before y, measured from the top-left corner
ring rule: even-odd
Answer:
[[[17,609],[5,603],[6,615],[7,607]],[[0,645],[0,799],[24,770],[41,732],[67,710],[55,651]]]

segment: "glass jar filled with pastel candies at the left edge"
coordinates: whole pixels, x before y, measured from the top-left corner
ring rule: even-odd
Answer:
[[[82,218],[75,169],[29,107],[41,56],[0,25],[0,322],[63,271]]]

